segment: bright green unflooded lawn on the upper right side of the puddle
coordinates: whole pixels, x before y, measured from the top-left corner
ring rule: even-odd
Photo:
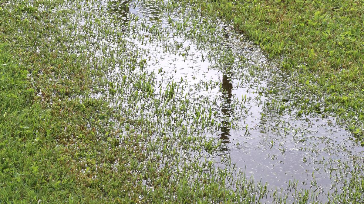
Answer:
[[[282,68],[296,72],[296,86],[305,91],[300,114],[310,111],[339,114],[363,140],[362,1],[189,2],[204,14],[217,14],[232,22],[270,57],[284,57]],[[305,102],[312,93],[322,99]]]

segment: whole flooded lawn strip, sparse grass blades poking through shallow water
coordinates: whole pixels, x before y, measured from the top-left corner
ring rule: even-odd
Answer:
[[[363,175],[363,145],[321,96],[305,95],[297,73],[280,68],[284,57],[269,59],[229,24],[174,1],[70,1],[54,12],[63,9],[75,12],[59,46],[100,76],[86,97],[70,98],[106,101],[105,132],[120,144],[143,135],[156,169],[191,183],[215,172],[260,203],[330,202]],[[308,104],[314,111],[302,111]],[[198,167],[183,173],[186,165]]]

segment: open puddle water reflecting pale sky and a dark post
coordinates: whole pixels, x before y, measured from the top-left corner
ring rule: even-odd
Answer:
[[[107,49],[95,46],[94,52],[114,56],[120,50],[138,50],[137,56],[146,64],[135,71],[135,76],[140,77],[140,72],[153,76],[156,96],[171,84],[178,86],[174,100],[188,100],[192,107],[178,115],[187,127],[193,124],[187,114],[197,110],[202,115],[210,113],[215,125],[198,126],[199,130],[195,127],[191,132],[222,143],[219,151],[210,155],[217,166],[223,167],[226,160],[221,162],[221,158],[227,157],[248,178],[268,183],[273,190],[287,194],[309,190],[316,199],[326,201],[328,193],[340,191],[353,167],[364,163],[363,147],[349,139],[335,118],[297,114],[292,104],[301,95],[291,92],[296,86],[290,81],[294,73],[281,71],[276,62],[269,61],[229,25],[203,23],[201,19],[201,24],[194,24],[194,15],[181,16],[177,12],[181,8],[173,12],[150,2],[100,4],[105,12],[98,19],[120,34],[95,38],[95,44],[100,42]],[[116,65],[110,78],[120,80],[116,76],[123,72],[122,66]],[[143,107],[142,103],[123,100],[118,104]],[[153,111],[135,114],[164,124],[165,120],[151,114]],[[173,128],[178,131],[179,127]]]

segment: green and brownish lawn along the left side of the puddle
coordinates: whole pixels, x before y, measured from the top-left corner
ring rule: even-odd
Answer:
[[[258,192],[264,194],[264,187],[245,179],[229,188],[234,170],[211,168],[208,160],[185,162],[172,138],[151,140],[157,124],[142,118],[124,123],[126,116],[110,107],[110,98],[90,97],[92,87],[112,82],[85,53],[67,52],[75,40],[68,34],[76,27],[69,16],[80,12],[80,2],[66,3],[1,2],[2,203],[254,202]],[[130,61],[131,67],[140,65]],[[123,134],[115,121],[123,124]],[[217,148],[211,141],[188,141],[199,151]]]

